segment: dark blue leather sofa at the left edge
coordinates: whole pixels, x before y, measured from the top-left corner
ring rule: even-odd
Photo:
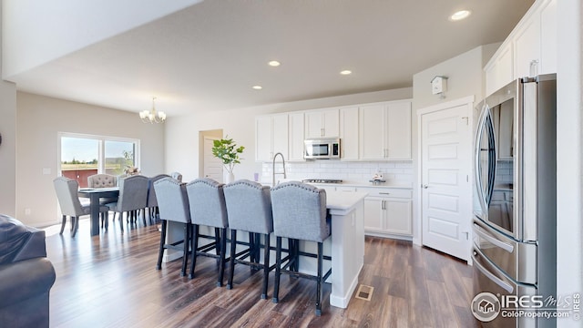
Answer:
[[[0,214],[0,326],[48,327],[55,279],[46,259],[45,231]]]

